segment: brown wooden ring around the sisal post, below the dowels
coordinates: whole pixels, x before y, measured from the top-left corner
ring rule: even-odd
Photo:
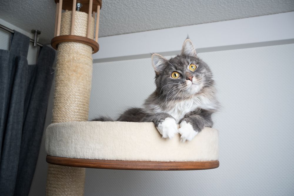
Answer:
[[[99,44],[94,41],[93,39],[83,37],[83,36],[77,36],[77,35],[61,35],[54,37],[51,40],[51,46],[55,50],[58,48],[58,44],[62,42],[78,42],[78,43],[84,43],[88,46],[91,46],[93,48],[93,54],[98,52],[99,50]]]

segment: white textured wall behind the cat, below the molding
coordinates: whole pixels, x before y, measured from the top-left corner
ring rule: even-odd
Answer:
[[[220,167],[86,169],[85,196],[293,195],[293,54],[294,44],[199,53],[212,68],[223,106],[214,115]],[[94,64],[89,118],[116,118],[140,106],[155,88],[153,78],[150,58]]]

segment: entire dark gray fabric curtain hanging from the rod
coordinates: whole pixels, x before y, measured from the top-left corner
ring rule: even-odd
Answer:
[[[29,38],[15,31],[0,50],[0,195],[28,195],[44,130],[55,51],[26,60]]]

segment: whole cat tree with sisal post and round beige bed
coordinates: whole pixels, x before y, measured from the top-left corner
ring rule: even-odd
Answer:
[[[83,195],[85,168],[203,170],[219,166],[218,131],[163,139],[153,123],[86,122],[101,0],[55,0],[57,49],[52,124],[46,130],[47,195]],[[62,10],[65,10],[62,13]],[[97,14],[96,14],[97,13]],[[94,22],[96,18],[95,39]]]

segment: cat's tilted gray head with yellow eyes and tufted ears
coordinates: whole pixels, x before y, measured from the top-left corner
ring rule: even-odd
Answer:
[[[185,40],[181,54],[174,58],[167,60],[153,54],[152,66],[158,93],[170,99],[190,97],[214,83],[210,68],[197,57],[190,39]]]

